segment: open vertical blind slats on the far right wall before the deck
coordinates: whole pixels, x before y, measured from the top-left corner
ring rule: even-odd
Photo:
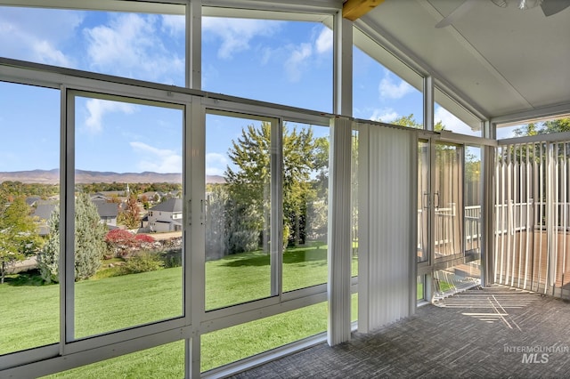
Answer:
[[[494,281],[570,298],[570,141],[497,148]]]

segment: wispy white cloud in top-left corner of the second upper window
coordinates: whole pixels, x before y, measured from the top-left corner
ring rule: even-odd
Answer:
[[[236,52],[250,48],[249,43],[256,36],[271,36],[279,30],[281,22],[271,20],[244,20],[204,17],[202,31],[204,35],[221,39],[217,51],[218,58],[232,59]]]

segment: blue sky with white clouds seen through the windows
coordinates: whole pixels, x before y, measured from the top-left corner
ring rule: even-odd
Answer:
[[[183,22],[182,16],[3,7],[0,56],[183,86]],[[330,29],[276,20],[205,18],[202,24],[203,90],[332,111]],[[419,91],[357,50],[354,67],[354,117],[390,122],[413,114],[421,122]],[[0,93],[0,171],[58,167],[59,92],[0,83]],[[76,108],[78,169],[182,169],[180,110],[84,98]],[[441,108],[438,119],[462,127]],[[230,141],[251,123],[208,117],[207,173],[224,171]]]

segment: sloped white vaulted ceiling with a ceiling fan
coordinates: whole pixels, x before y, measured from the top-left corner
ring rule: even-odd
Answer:
[[[520,0],[505,8],[467,1],[465,12],[444,28],[436,24],[463,0],[385,0],[356,23],[411,55],[428,71],[423,75],[459,95],[479,117],[570,113],[570,7],[546,17],[540,6],[518,9]]]

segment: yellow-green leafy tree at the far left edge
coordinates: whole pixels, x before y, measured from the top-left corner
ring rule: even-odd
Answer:
[[[10,205],[2,201],[0,206],[0,284],[3,284],[6,271],[15,262],[35,254],[41,240],[24,198],[15,198]]]

